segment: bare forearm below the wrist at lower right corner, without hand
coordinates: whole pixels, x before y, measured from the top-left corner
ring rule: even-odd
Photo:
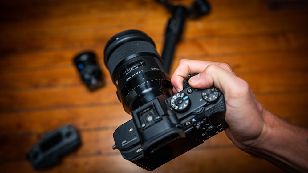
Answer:
[[[260,156],[286,172],[308,171],[308,129],[264,111],[264,130],[249,153]]]

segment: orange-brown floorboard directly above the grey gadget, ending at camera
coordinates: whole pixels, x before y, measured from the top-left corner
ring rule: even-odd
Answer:
[[[73,124],[79,130],[115,129],[132,119],[120,102],[0,114],[0,136],[27,135]],[[34,123],[35,122],[35,123]]]

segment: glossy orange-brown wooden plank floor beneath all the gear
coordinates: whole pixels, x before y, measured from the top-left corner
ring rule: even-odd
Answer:
[[[264,0],[209,2],[209,15],[187,20],[171,74],[182,58],[226,62],[265,108],[307,127],[308,9],[269,10]],[[131,116],[117,99],[103,49],[114,34],[139,29],[161,53],[168,18],[154,0],[2,2],[0,172],[36,172],[26,153],[44,133],[69,123],[82,146],[46,172],[147,172],[111,148],[115,128]],[[95,51],[103,69],[106,85],[95,92],[72,63],[84,50]],[[283,171],[237,149],[222,132],[153,172]]]

